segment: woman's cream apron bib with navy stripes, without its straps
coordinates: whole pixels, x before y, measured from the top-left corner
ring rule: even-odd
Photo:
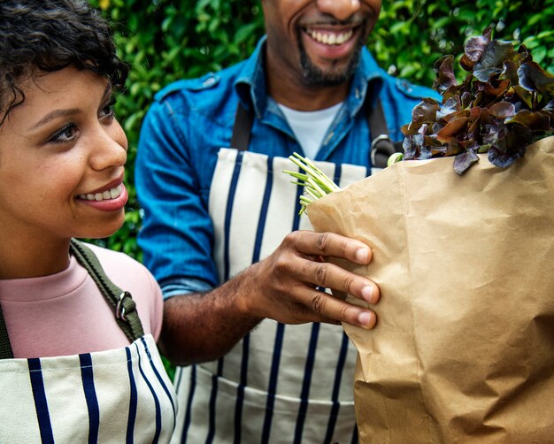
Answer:
[[[152,336],[126,348],[0,360],[0,442],[168,442],[173,385]]]

